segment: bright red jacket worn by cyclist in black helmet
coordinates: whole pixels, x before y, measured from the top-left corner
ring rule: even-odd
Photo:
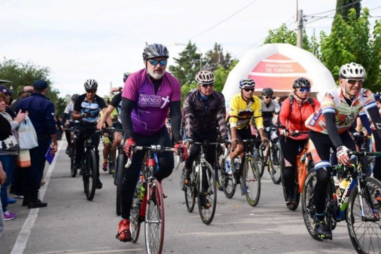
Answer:
[[[290,133],[294,130],[308,131],[305,126],[305,122],[311,114],[319,110],[320,103],[315,98],[310,98],[306,103],[300,105],[296,99],[293,99],[293,105],[291,107],[291,100],[287,98],[283,101],[282,107],[279,113],[279,122],[282,126],[286,127]],[[313,103],[311,103],[313,102]],[[292,139],[306,139],[308,134],[300,134],[299,136],[292,137]]]

